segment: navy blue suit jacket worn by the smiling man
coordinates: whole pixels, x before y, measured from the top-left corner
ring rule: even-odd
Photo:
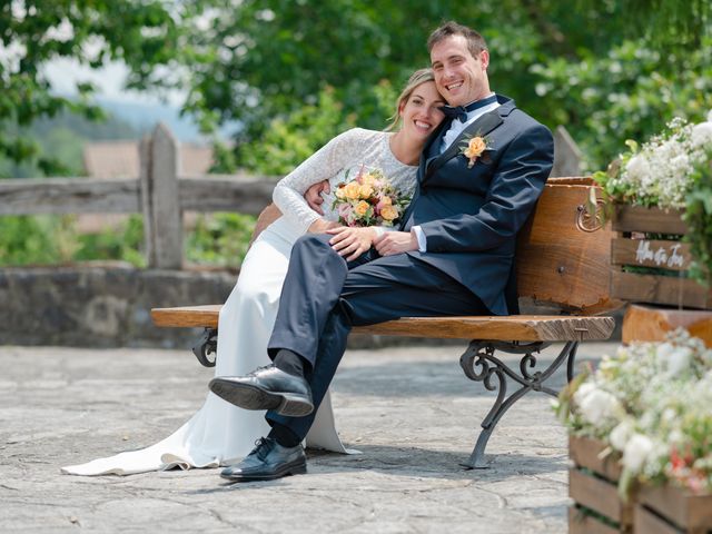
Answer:
[[[532,212],[554,160],[551,131],[514,101],[469,125],[438,154],[449,120],[428,139],[421,156],[418,191],[402,229],[419,225],[426,253],[408,253],[448,274],[495,315],[507,308],[505,290],[514,269],[516,235]],[[465,140],[486,137],[487,155],[468,168]],[[514,277],[512,277],[514,278]]]

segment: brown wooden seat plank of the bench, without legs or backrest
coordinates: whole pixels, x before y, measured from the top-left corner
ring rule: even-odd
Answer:
[[[221,305],[154,308],[156,326],[217,328]],[[406,317],[378,325],[354,328],[354,334],[451,339],[521,342],[566,342],[607,339],[615,322],[612,317],[561,315],[515,315],[473,317]]]

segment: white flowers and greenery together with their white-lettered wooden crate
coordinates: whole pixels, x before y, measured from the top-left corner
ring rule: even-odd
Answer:
[[[639,300],[630,291],[636,279],[630,274],[674,276],[710,286],[712,280],[712,112],[693,125],[673,119],[659,136],[629,150],[600,171],[594,179],[606,201],[605,217],[623,239],[613,243],[612,293],[617,298]],[[684,236],[684,237],[683,237]],[[630,238],[634,240],[631,241]],[[617,280],[617,284],[616,284]],[[643,301],[685,304],[675,295],[681,285],[669,281],[668,295]],[[664,278],[641,280],[643,293]],[[619,294],[616,286],[623,294]],[[709,308],[712,296],[700,297],[699,286],[689,285],[690,306]],[[625,293],[629,291],[629,293]],[[663,291],[664,293],[664,291]],[[696,294],[696,297],[695,297]]]

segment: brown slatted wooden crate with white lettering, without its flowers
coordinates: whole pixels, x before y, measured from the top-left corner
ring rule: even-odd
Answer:
[[[690,246],[680,239],[662,238],[686,234],[681,211],[617,204],[612,225],[616,233],[611,241],[612,298],[712,309],[712,289],[685,278],[692,261]],[[647,238],[651,234],[661,238]],[[631,273],[626,267],[645,267],[661,274]],[[673,276],[663,276],[663,271]]]

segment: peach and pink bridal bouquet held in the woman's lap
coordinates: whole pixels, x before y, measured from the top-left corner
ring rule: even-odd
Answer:
[[[356,178],[339,184],[334,196],[333,208],[338,212],[338,221],[350,227],[393,226],[411,202],[411,198],[400,195],[380,169],[366,169],[365,166]]]

